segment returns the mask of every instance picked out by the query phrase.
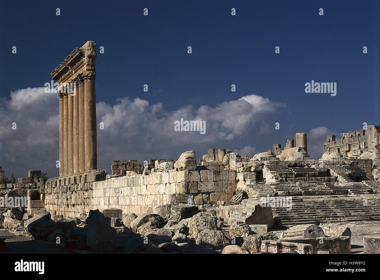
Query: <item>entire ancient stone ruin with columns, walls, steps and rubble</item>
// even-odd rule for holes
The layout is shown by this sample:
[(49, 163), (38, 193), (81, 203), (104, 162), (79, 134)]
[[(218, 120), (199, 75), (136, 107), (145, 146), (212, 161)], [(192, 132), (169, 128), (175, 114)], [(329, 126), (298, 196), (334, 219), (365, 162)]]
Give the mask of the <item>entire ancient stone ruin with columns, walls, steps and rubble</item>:
[[(332, 254), (351, 253), (351, 230), (337, 222), (380, 220), (375, 125), (328, 135), (320, 160), (296, 133), (295, 147), (287, 139), (253, 157), (209, 149), (199, 161), (185, 151), (97, 170), (95, 46), (76, 48), (51, 73), (60, 88), (78, 85), (58, 94), (60, 177), (43, 182), (30, 171), (2, 187), (30, 199), (26, 210), (2, 212), (4, 228), (93, 253)], [(379, 239), (364, 237), (364, 252), (379, 253)]]

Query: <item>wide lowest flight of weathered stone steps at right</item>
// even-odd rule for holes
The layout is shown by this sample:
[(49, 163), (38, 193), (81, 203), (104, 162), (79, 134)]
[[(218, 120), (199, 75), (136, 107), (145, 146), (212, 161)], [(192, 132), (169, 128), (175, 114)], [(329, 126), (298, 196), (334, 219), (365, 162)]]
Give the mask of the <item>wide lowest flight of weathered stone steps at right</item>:
[(292, 197), (291, 210), (272, 207), (283, 225), (380, 220), (379, 195)]

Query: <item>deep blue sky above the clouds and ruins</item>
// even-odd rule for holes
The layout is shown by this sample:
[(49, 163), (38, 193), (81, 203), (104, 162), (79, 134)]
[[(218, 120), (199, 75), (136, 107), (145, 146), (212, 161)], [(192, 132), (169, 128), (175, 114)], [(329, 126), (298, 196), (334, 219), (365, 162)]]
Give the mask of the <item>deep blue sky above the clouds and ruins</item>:
[[(261, 152), (319, 126), (342, 133), (380, 124), (379, 14), (379, 1), (6, 1), (0, 96), (44, 86), (74, 48), (91, 40), (98, 102), (139, 97), (172, 111), (256, 94), (286, 103), (266, 120), (282, 128), (270, 138), (260, 139), (256, 127), (239, 145), (219, 143)], [(311, 80), (336, 82), (337, 95), (305, 93)]]

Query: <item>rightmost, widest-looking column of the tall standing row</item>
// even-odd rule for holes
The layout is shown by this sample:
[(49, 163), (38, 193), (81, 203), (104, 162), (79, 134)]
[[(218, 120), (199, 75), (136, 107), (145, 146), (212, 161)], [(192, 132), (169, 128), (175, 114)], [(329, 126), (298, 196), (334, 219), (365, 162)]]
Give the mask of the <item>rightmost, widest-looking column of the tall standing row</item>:
[(97, 123), (95, 71), (86, 70), (84, 77), (84, 162), (86, 171), (97, 169)]

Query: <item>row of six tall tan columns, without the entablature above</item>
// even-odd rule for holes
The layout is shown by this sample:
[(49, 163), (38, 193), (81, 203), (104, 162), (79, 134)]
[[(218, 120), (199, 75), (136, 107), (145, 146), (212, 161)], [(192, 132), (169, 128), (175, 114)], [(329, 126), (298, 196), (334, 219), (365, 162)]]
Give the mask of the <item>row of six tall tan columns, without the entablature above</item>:
[(59, 94), (60, 176), (97, 169), (95, 77), (75, 83), (73, 93)]

